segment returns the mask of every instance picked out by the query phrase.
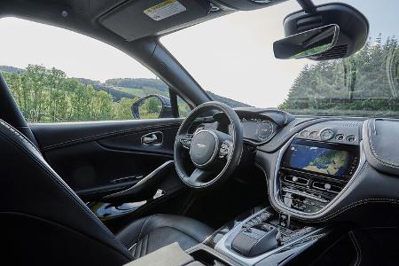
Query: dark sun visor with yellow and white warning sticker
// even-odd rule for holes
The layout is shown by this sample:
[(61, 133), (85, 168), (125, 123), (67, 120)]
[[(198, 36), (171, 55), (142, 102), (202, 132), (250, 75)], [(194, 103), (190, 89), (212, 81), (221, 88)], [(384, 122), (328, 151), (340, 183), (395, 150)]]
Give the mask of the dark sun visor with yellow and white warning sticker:
[(102, 15), (100, 23), (127, 41), (159, 35), (171, 27), (207, 16), (203, 0), (131, 0)]

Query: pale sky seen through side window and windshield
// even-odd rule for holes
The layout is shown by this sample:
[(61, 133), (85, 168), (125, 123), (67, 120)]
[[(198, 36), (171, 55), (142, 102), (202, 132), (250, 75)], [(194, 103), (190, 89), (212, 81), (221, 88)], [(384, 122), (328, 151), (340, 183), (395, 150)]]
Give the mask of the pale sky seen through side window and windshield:
[[(315, 1), (322, 4), (327, 1)], [(399, 1), (348, 0), (368, 18), (372, 37), (399, 36)], [(290, 0), (269, 8), (236, 12), (161, 38), (205, 90), (246, 104), (276, 107), (287, 96), (308, 59), (275, 59), (272, 43), (284, 37), (282, 22), (299, 10)], [(155, 75), (128, 55), (66, 29), (14, 18), (0, 20), (0, 65), (56, 67), (70, 77), (105, 82), (110, 78)], [(6, 51), (6, 52), (4, 52)]]

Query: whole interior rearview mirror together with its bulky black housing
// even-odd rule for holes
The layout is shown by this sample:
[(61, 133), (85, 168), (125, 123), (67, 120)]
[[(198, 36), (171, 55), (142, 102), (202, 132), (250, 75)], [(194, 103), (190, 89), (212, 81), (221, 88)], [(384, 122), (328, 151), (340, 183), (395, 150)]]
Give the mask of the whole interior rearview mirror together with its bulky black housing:
[(361, 12), (348, 4), (303, 2), (310, 7), (286, 16), (286, 38), (273, 43), (277, 59), (342, 59), (364, 46), (369, 22)]

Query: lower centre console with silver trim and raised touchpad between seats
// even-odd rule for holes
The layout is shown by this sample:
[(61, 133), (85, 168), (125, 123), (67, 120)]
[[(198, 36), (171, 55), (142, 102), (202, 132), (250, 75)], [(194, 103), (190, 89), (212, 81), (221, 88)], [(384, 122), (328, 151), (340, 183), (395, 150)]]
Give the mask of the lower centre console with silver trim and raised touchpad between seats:
[(278, 215), (271, 207), (254, 209), (252, 214), (242, 215), (215, 231), (205, 245), (194, 247), (189, 254), (200, 261), (201, 258), (196, 257), (200, 249), (202, 253), (207, 251), (236, 262), (217, 265), (278, 265), (331, 231), (329, 227), (311, 227), (289, 220), (289, 216)]

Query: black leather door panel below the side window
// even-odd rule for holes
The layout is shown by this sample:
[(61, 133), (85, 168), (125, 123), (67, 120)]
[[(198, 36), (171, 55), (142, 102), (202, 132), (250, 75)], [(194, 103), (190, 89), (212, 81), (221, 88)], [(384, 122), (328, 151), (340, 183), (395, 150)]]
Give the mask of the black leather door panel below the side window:
[[(83, 200), (136, 184), (167, 160), (182, 119), (31, 124), (43, 156)], [(160, 132), (161, 145), (143, 145)]]

